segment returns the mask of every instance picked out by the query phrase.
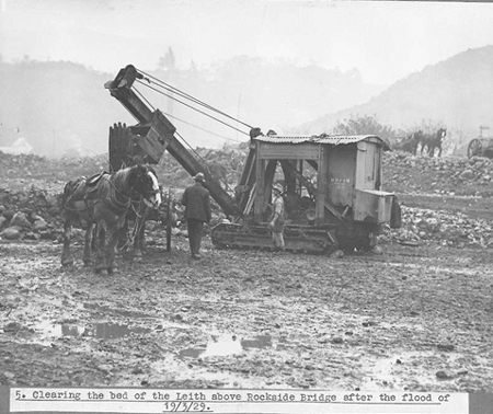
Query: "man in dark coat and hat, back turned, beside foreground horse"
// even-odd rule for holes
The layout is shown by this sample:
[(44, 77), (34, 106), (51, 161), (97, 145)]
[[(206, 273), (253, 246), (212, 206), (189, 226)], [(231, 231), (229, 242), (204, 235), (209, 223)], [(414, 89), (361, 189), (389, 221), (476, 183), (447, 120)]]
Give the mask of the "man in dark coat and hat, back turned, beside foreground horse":
[(208, 189), (204, 188), (204, 174), (196, 174), (194, 180), (195, 185), (187, 187), (183, 193), (182, 205), (185, 206), (185, 219), (188, 229), (192, 258), (199, 260), (204, 222), (210, 221), (210, 199)]

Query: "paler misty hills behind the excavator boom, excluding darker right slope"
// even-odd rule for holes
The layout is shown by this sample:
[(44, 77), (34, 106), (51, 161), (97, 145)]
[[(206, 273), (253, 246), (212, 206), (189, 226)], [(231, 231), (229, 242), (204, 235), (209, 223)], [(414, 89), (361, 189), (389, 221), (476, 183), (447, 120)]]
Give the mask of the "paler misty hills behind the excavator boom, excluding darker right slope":
[[(103, 88), (119, 69), (115, 66), (114, 73), (102, 73), (66, 61), (0, 60), (0, 90), (5, 97), (0, 101), (0, 147), (24, 138), (35, 153), (48, 157), (105, 152), (110, 126), (136, 124)], [(139, 69), (246, 124), (279, 133), (328, 111), (366, 102), (382, 89), (365, 84), (356, 70), (297, 67), (248, 57), (210, 69), (193, 62), (186, 70), (173, 66)], [(152, 106), (170, 115), (192, 146), (218, 148), (248, 138), (249, 128), (242, 125), (245, 135), (140, 85), (139, 91)]]

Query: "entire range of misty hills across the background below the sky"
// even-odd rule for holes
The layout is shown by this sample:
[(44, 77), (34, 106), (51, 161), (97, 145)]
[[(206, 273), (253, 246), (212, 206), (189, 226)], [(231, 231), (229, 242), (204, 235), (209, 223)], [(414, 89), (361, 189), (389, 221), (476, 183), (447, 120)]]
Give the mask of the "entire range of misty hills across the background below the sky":
[[(328, 133), (337, 120), (370, 115), (395, 130), (445, 126), (446, 153), (462, 154), (480, 125), (493, 128), (492, 67), (493, 46), (469, 49), (385, 91), (365, 84), (357, 70), (244, 56), (210, 69), (192, 62), (186, 70), (161, 67), (148, 73), (264, 131)], [(48, 157), (105, 152), (111, 125), (136, 123), (103, 88), (118, 69), (102, 73), (71, 62), (0, 61), (0, 88), (8, 96), (0, 102), (0, 147), (24, 138), (34, 153)], [(192, 147), (220, 148), (248, 138), (244, 125), (228, 120), (240, 129), (234, 130), (180, 102), (142, 92)]]

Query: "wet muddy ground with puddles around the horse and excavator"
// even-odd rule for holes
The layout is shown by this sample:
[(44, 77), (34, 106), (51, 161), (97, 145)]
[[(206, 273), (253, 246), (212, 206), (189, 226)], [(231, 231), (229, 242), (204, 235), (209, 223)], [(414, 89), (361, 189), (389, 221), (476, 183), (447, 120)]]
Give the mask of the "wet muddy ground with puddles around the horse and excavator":
[[(491, 198), (399, 197), (492, 217)], [(160, 228), (102, 276), (80, 242), (67, 271), (56, 240), (1, 240), (0, 384), (492, 392), (493, 245), (446, 244), (383, 237), (337, 258), (206, 238), (192, 261)]]

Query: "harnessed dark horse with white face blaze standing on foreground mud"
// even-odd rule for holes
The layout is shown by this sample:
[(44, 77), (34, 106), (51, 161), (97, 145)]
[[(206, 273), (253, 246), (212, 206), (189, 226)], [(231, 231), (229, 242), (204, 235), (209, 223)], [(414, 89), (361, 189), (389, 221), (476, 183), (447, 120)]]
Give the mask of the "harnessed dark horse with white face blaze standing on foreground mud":
[(134, 200), (144, 200), (149, 207), (159, 206), (161, 203), (158, 180), (148, 165), (138, 164), (114, 174), (104, 172), (90, 179), (69, 181), (65, 185), (61, 198), (64, 208), (61, 265), (68, 266), (73, 263), (70, 253), (71, 227), (77, 221), (84, 221), (87, 223), (84, 265), (91, 263), (92, 230), (98, 225), (95, 271), (113, 273), (118, 230)]

